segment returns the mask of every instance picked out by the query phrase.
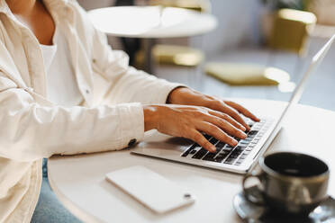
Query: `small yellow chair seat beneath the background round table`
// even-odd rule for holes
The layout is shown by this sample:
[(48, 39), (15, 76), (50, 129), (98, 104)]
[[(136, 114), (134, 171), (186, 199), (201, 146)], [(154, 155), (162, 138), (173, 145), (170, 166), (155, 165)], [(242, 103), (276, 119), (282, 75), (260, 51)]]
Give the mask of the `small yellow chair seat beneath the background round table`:
[(195, 67), (204, 59), (201, 50), (184, 46), (156, 45), (152, 53), (159, 64)]

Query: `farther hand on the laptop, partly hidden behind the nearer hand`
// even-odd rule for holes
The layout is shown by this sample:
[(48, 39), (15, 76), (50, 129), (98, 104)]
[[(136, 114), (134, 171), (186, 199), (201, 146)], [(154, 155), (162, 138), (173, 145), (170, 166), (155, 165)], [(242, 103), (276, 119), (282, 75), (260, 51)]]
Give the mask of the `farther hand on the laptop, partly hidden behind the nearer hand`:
[(234, 120), (237, 120), (246, 130), (250, 127), (242, 119), (240, 113), (254, 121), (259, 119), (238, 103), (223, 101), (221, 99), (201, 94), (187, 87), (178, 87), (168, 95), (168, 103), (203, 106), (214, 111), (228, 114)]

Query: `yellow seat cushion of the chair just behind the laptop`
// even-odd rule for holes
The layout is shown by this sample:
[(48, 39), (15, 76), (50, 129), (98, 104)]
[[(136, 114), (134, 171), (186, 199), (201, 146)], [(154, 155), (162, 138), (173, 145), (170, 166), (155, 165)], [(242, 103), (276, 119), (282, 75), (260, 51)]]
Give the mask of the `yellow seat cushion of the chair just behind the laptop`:
[(205, 72), (229, 85), (278, 85), (290, 79), (284, 70), (256, 64), (208, 63)]

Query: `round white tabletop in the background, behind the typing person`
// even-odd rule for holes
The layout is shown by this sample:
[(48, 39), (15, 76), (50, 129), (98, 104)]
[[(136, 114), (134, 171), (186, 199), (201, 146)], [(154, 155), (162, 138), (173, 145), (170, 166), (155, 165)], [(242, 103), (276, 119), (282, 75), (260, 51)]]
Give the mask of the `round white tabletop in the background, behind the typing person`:
[(95, 28), (119, 37), (190, 37), (213, 31), (217, 26), (212, 14), (174, 7), (106, 7), (92, 10), (89, 15)]

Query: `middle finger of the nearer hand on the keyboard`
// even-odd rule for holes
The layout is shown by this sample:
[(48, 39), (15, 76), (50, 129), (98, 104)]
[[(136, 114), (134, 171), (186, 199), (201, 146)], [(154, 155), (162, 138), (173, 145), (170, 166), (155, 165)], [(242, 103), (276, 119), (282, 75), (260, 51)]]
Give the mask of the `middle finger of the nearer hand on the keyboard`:
[(237, 137), (237, 138), (247, 138), (247, 135), (241, 131), (240, 129), (235, 128), (231, 123), (229, 123), (227, 120), (223, 120), (217, 116), (214, 115), (207, 115), (204, 120), (207, 122), (210, 122), (214, 124), (215, 126), (223, 129), (225, 132), (230, 134), (231, 136)]

